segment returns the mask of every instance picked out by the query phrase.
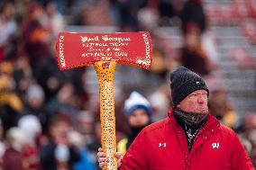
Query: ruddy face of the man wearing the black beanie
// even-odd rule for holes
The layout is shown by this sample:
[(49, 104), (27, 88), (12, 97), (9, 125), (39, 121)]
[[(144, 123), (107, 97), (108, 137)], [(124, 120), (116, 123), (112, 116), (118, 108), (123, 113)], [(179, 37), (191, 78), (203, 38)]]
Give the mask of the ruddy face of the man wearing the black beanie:
[(208, 112), (207, 101), (208, 96), (206, 90), (197, 90), (188, 94), (177, 107), (184, 112), (197, 112), (206, 113)]

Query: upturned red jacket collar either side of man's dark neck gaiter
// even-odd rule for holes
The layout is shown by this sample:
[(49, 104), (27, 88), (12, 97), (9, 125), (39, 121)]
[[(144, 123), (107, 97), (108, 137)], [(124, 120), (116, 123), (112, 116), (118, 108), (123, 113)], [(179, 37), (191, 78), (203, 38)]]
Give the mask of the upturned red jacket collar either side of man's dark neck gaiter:
[[(173, 109), (174, 107), (172, 107), (169, 112), (168, 112), (168, 117), (169, 117), (169, 121), (171, 121), (174, 125), (179, 126), (178, 122), (176, 121), (174, 114), (173, 114)], [(217, 121), (217, 119), (215, 118), (215, 116), (213, 116), (210, 112), (208, 112), (208, 118), (206, 123), (204, 124), (204, 129), (208, 129), (212, 126), (217, 126), (219, 127), (220, 122)]]

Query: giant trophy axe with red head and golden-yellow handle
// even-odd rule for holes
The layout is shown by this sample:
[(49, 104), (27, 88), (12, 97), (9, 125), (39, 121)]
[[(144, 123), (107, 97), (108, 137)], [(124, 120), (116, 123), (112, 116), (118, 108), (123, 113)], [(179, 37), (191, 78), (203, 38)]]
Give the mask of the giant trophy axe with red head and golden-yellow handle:
[(108, 159), (105, 170), (117, 169), (114, 117), (114, 70), (117, 63), (149, 69), (149, 32), (60, 32), (56, 42), (59, 69), (94, 65), (99, 80), (101, 144)]

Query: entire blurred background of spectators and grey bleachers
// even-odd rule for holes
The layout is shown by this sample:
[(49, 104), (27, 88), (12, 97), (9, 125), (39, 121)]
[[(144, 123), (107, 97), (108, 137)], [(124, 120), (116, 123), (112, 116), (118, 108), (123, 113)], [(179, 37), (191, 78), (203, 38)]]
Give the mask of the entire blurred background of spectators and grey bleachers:
[(256, 164), (255, 0), (1, 0), (0, 169), (98, 168), (96, 72), (59, 71), (59, 31), (150, 31), (151, 70), (115, 71), (117, 141), (130, 133), (131, 92), (146, 96), (159, 121), (172, 105), (169, 72), (185, 66), (206, 79), (210, 111)]

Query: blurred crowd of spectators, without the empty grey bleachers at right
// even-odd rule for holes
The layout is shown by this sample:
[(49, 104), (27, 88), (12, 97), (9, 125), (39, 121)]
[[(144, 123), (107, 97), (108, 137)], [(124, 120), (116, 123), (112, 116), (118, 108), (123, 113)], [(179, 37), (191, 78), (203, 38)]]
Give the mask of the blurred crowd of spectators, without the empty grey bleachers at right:
[[(204, 43), (209, 25), (200, 0), (5, 0), (0, 3), (0, 169), (98, 168), (99, 102), (88, 92), (87, 67), (59, 71), (55, 57), (58, 32), (69, 25), (151, 32), (151, 70), (142, 74), (140, 85), (121, 84), (115, 96), (117, 140), (129, 134), (123, 103), (130, 92), (148, 97), (151, 119), (158, 121), (171, 106), (169, 71), (185, 66), (206, 78), (210, 111), (237, 131), (255, 165), (256, 115), (240, 120), (211, 74), (218, 61), (213, 44)], [(157, 31), (173, 25), (183, 41), (178, 51)], [(147, 83), (152, 77), (158, 88)]]

